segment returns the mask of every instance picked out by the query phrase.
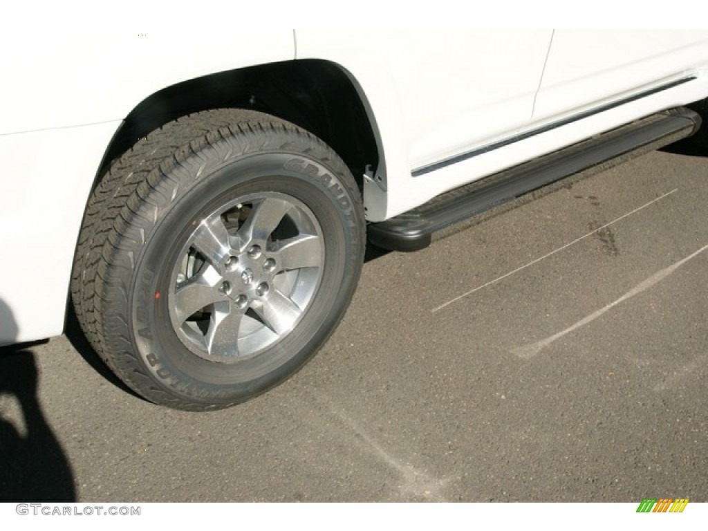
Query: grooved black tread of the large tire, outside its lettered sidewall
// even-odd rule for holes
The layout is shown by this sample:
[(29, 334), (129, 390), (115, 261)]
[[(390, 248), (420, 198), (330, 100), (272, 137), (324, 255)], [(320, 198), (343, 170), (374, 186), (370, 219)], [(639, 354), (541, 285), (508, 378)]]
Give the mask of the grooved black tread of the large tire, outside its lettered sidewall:
[[(132, 263), (135, 256), (127, 243), (133, 236), (139, 238), (137, 227), (152, 226), (154, 220), (148, 212), (161, 207), (156, 198), (161, 198), (165, 205), (171, 201), (170, 195), (180, 184), (171, 178), (171, 171), (199, 156), (202, 149), (213, 148), (227, 138), (242, 142), (244, 153), (275, 149), (292, 149), (300, 154), (317, 152), (319, 160), (339, 176), (350, 175), (324, 142), (289, 122), (232, 108), (187, 115), (154, 130), (110, 164), (89, 199), (76, 246), (70, 291), (84, 335), (106, 365), (129, 387), (151, 401), (177, 409), (201, 411), (233, 404), (205, 406), (177, 399), (139, 369), (137, 354), (131, 348), (129, 326), (122, 317), (123, 309), (129, 305), (128, 286), (135, 267)], [(259, 139), (262, 140), (258, 142)], [(289, 145), (293, 142), (298, 145)], [(355, 208), (362, 212), (353, 178), (343, 178), (341, 183), (355, 199)], [(363, 253), (363, 238), (359, 251)]]

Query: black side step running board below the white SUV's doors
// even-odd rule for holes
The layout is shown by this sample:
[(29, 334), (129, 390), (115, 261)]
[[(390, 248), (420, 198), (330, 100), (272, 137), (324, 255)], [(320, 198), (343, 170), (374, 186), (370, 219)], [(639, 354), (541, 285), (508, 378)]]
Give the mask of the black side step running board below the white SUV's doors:
[(430, 245), (433, 232), (594, 166), (603, 164), (603, 169), (607, 169), (613, 165), (611, 161), (619, 164), (634, 152), (659, 149), (692, 135), (700, 125), (700, 116), (683, 107), (642, 118), (438, 195), (387, 221), (372, 223), (368, 239), (373, 245), (392, 251), (424, 249)]

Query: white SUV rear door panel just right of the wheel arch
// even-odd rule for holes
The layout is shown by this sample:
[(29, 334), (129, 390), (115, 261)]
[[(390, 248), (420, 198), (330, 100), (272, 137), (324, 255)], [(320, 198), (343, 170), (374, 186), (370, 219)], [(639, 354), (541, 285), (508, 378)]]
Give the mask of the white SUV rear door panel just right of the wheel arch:
[(552, 32), (296, 35), (298, 59), (346, 65), (376, 119), (402, 124), (392, 135), (405, 136), (409, 170), (415, 170), (513, 135), (530, 120)]

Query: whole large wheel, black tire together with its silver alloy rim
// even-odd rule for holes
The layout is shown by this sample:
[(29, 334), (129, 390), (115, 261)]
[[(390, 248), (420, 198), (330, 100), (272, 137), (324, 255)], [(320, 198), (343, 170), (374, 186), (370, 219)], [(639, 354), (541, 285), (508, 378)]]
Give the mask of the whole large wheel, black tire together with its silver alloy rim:
[(115, 161), (89, 200), (72, 300), (144, 398), (201, 411), (290, 377), (331, 335), (363, 263), (343, 161), (270, 115), (189, 115)]

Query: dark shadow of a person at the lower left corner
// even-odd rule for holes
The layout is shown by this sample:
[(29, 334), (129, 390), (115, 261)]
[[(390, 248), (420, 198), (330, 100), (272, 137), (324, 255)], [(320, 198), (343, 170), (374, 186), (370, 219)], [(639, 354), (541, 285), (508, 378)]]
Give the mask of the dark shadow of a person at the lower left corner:
[[(17, 326), (0, 300), (3, 331)], [(76, 490), (69, 459), (47, 423), (38, 399), (38, 370), (28, 345), (0, 348), (0, 501), (74, 502)], [(24, 430), (6, 418), (8, 397), (21, 411)], [(24, 433), (23, 433), (24, 432)]]

